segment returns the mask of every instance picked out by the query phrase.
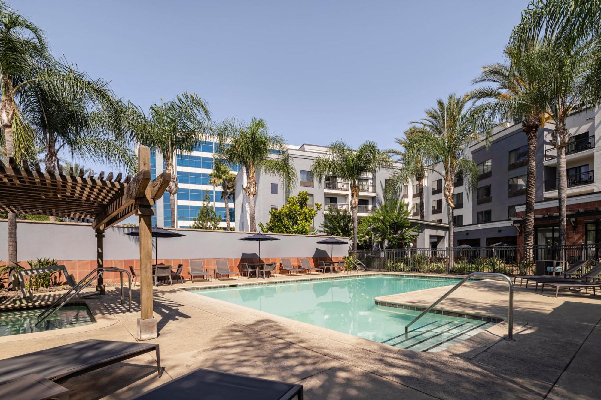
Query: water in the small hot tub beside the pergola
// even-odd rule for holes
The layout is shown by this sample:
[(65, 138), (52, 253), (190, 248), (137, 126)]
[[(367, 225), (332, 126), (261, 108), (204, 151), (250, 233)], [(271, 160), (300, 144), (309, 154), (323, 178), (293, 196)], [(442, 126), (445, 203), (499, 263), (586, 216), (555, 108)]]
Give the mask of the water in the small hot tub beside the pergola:
[(44, 309), (0, 312), (0, 336), (73, 328), (96, 322), (86, 306), (64, 306), (40, 327), (35, 327), (37, 317), (42, 311)]

